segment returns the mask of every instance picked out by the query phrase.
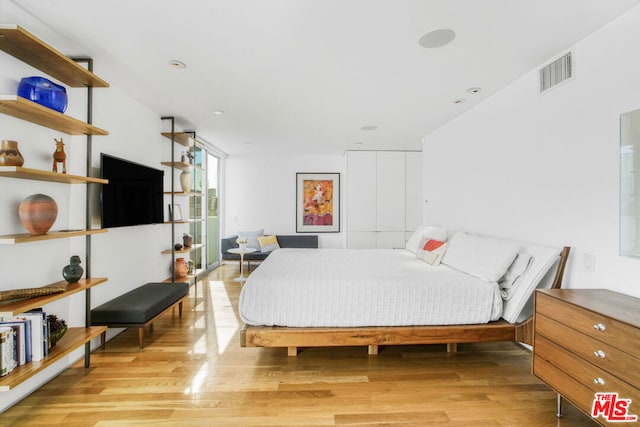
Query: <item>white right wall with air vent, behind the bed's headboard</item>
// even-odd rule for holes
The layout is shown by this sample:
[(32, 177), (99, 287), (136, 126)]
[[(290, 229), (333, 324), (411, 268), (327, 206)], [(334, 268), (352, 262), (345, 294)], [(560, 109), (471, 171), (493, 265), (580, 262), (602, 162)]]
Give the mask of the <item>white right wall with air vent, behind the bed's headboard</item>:
[(640, 296), (640, 259), (618, 255), (619, 118), (640, 108), (638, 22), (640, 7), (578, 43), (572, 82), (540, 96), (534, 70), (427, 135), (424, 221), (572, 246), (565, 286)]

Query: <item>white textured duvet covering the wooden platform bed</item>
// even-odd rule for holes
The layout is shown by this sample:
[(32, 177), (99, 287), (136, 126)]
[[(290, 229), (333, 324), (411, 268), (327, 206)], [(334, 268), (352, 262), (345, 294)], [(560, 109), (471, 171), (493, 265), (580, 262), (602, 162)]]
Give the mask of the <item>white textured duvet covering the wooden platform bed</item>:
[(502, 298), (489, 283), (404, 249), (277, 249), (240, 294), (249, 325), (359, 327), (487, 323)]

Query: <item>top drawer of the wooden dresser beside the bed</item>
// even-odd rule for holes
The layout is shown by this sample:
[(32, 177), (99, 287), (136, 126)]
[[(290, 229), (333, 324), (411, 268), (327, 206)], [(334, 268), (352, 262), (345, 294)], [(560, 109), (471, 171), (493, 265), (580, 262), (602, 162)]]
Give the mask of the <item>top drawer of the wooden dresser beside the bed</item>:
[(640, 332), (637, 327), (542, 292), (536, 293), (536, 313), (640, 359)]

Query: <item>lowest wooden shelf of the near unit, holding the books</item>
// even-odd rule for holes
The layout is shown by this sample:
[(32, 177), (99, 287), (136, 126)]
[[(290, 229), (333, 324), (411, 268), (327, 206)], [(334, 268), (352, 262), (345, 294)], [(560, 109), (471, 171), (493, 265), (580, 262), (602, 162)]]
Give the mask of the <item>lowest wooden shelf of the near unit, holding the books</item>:
[(53, 365), (72, 351), (81, 347), (84, 343), (97, 338), (106, 326), (91, 326), (89, 328), (69, 328), (67, 333), (51, 348), (49, 355), (38, 362), (29, 362), (15, 368), (5, 377), (0, 378), (0, 391), (9, 391), (45, 368)]

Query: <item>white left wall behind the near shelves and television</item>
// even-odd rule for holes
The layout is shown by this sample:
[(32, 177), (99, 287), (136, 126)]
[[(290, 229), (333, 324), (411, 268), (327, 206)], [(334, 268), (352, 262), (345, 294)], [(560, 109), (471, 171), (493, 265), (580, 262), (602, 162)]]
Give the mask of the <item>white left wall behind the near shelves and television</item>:
[[(4, 21), (4, 18), (3, 18)], [(25, 26), (36, 34), (46, 33), (37, 22)], [(44, 37), (44, 36), (43, 36)], [(90, 53), (90, 52), (89, 52)], [(38, 70), (22, 64), (0, 52), (0, 93), (15, 94), (21, 77), (42, 75)], [(100, 73), (100, 63), (95, 71)], [(67, 114), (85, 120), (86, 91), (68, 89), (70, 106)], [(160, 136), (160, 118), (117, 87), (94, 90), (94, 124), (110, 132), (109, 136), (93, 137), (94, 174), (99, 174), (100, 152), (107, 152), (148, 166), (162, 169), (160, 162), (169, 160), (169, 142)], [(38, 125), (0, 114), (0, 139), (13, 139), (25, 157), (25, 167), (50, 170), (54, 138), (63, 137), (68, 155), (68, 172), (85, 174), (86, 139), (70, 137)], [(84, 228), (85, 186), (41, 181), (0, 178), (0, 235), (24, 233), (18, 219), (18, 204), (33, 193), (51, 195), (58, 203), (59, 214), (52, 230)], [(92, 198), (98, 215), (97, 196)], [(94, 216), (95, 217), (95, 216)], [(98, 222), (99, 217), (94, 218)], [(108, 277), (109, 281), (92, 290), (93, 306), (115, 295), (149, 281), (162, 281), (169, 276), (170, 257), (160, 251), (170, 247), (170, 228), (150, 225), (111, 229), (106, 234), (93, 236), (94, 277)], [(62, 280), (62, 268), (74, 254), (81, 256), (86, 269), (85, 239), (57, 239), (19, 245), (0, 245), (0, 290), (43, 286)], [(77, 294), (45, 307), (65, 319), (70, 326), (84, 326), (84, 296)], [(113, 331), (110, 330), (110, 336)], [(97, 340), (94, 340), (97, 341)], [(93, 343), (94, 347), (97, 342)], [(41, 383), (60, 373), (65, 367), (82, 357), (75, 351), (69, 357), (46, 369), (41, 374), (9, 392), (0, 393), (0, 412), (35, 390)]]

